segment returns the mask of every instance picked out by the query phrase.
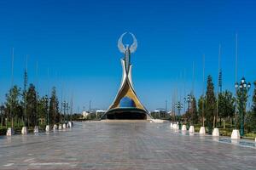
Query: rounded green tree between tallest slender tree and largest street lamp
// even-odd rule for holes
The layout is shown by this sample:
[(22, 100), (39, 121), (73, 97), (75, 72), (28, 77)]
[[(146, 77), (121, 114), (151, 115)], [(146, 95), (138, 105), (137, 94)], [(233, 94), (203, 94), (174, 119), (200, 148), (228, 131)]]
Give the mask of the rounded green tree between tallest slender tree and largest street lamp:
[(230, 117), (232, 118), (235, 113), (235, 98), (229, 91), (218, 94), (218, 116), (224, 121)]

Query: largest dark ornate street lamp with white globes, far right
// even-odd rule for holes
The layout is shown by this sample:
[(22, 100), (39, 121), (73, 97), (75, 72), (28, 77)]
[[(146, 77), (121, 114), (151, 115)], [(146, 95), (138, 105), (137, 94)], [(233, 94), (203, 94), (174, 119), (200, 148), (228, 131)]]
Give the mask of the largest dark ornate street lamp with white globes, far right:
[(245, 111), (246, 111), (246, 106), (245, 106), (244, 102), (246, 102), (246, 98), (247, 98), (244, 95), (247, 94), (247, 91), (249, 91), (249, 89), (251, 88), (251, 83), (246, 82), (245, 77), (242, 77), (239, 86), (238, 86), (237, 82), (235, 84), (235, 88), (237, 89), (238, 87), (241, 92), (241, 101), (239, 104), (240, 105), (240, 117), (241, 117), (240, 134), (241, 134), (241, 136), (243, 136), (244, 135), (244, 115), (245, 115)]

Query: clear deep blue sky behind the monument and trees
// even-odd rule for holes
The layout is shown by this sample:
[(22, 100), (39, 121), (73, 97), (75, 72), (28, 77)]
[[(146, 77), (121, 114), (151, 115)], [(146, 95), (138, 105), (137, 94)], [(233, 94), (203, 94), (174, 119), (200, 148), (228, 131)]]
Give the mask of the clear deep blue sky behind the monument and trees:
[[(223, 86), (234, 91), (235, 35), (238, 33), (238, 78), (256, 77), (256, 3), (251, 1), (1, 1), (0, 100), (11, 83), (11, 49), (15, 48), (15, 84), (23, 87), (28, 57), (28, 82), (40, 95), (55, 86), (61, 98), (73, 94), (74, 109), (107, 109), (121, 79), (123, 56), (117, 41), (133, 32), (138, 48), (131, 56), (133, 82), (148, 110), (168, 107), (172, 94), (202, 89), (202, 54), (206, 77), (218, 79), (218, 45), (222, 46)], [(126, 42), (131, 41), (126, 37)], [(47, 70), (49, 68), (49, 77)], [(183, 96), (182, 96), (183, 97)]]

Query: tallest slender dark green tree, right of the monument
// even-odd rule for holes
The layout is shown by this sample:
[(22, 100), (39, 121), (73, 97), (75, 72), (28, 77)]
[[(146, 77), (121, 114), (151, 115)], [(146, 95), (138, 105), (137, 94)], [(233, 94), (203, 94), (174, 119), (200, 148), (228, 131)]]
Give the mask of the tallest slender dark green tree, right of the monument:
[(214, 117), (216, 117), (216, 98), (214, 94), (214, 86), (212, 77), (207, 78), (207, 96), (206, 96), (206, 122), (208, 127), (208, 133), (212, 133), (212, 125)]

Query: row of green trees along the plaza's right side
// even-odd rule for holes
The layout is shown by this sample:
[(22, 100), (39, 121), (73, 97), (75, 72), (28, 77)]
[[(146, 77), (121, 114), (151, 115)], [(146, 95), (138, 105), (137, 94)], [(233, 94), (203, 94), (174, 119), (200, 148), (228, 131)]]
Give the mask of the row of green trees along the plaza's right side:
[(207, 127), (208, 133), (212, 133), (213, 127), (225, 128), (227, 124), (239, 128), (243, 120), (240, 113), (243, 112), (247, 133), (256, 133), (256, 82), (254, 82), (252, 106), (247, 107), (247, 99), (248, 90), (242, 93), (240, 88), (237, 88), (236, 98), (228, 90), (215, 94), (212, 77), (208, 76), (206, 94), (201, 95), (197, 102), (192, 96), (191, 105), (183, 115), (183, 120), (193, 124), (200, 123), (201, 126)]

